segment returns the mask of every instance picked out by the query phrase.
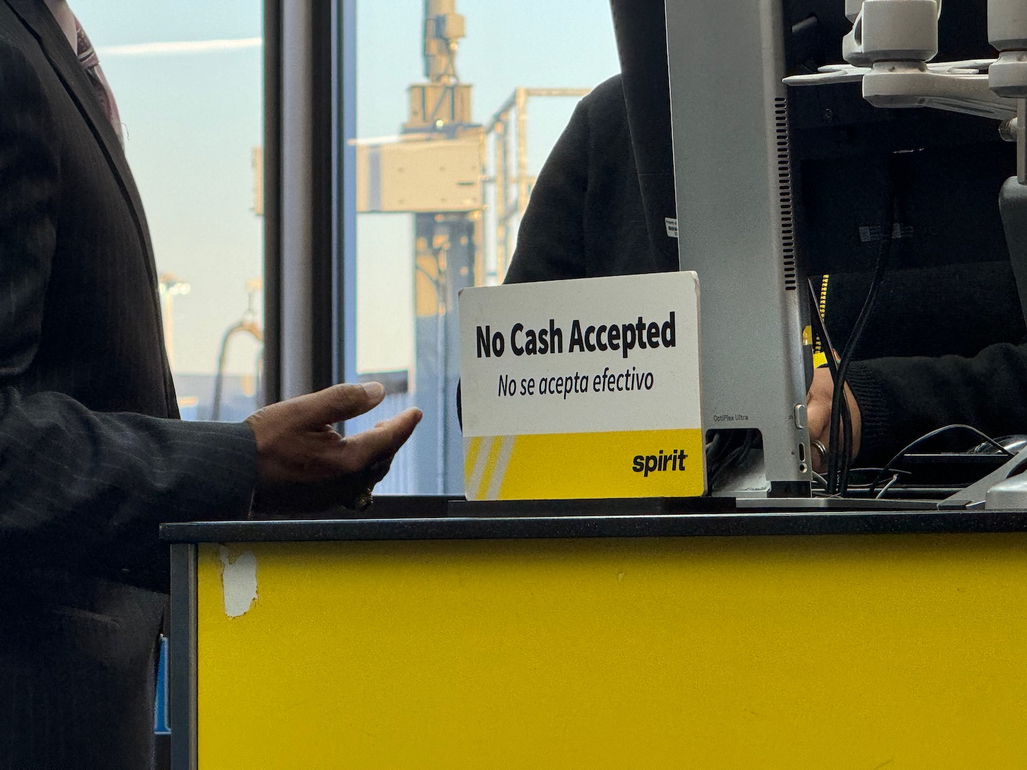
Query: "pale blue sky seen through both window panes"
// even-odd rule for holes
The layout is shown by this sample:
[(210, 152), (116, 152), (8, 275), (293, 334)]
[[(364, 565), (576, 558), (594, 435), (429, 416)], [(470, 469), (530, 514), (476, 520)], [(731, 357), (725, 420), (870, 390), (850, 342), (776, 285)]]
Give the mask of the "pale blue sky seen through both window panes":
[[(213, 373), (225, 330), (261, 275), (252, 152), (262, 141), (262, 4), (256, 0), (70, 0), (100, 53), (126, 132), (159, 272), (187, 281), (174, 301), (177, 373)], [(606, 0), (457, 0), (457, 57), (485, 121), (518, 86), (592, 87), (618, 70)], [(145, 12), (144, 12), (145, 9)], [(357, 2), (357, 137), (397, 132), (407, 87), (424, 79), (423, 0)], [(191, 43), (183, 45), (181, 43)], [(574, 100), (533, 100), (529, 172), (537, 174)], [(413, 224), (357, 221), (357, 369), (413, 364)], [(258, 298), (257, 309), (260, 309)], [(237, 339), (228, 371), (254, 371)]]

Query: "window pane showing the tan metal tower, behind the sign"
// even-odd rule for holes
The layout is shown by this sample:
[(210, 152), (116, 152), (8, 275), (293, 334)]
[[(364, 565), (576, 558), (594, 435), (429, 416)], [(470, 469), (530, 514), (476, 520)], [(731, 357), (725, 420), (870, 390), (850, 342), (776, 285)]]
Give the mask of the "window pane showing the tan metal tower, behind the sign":
[(357, 371), (347, 375), (389, 394), (350, 429), (420, 407), (425, 419), (378, 490), (459, 494), (457, 292), (501, 281), (571, 111), (619, 71), (610, 10), (357, 0), (355, 45)]

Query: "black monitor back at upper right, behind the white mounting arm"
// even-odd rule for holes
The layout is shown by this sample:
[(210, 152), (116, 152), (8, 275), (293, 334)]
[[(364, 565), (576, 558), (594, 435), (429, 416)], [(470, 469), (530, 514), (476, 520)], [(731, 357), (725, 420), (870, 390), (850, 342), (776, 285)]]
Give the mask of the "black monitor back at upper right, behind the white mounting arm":
[[(785, 0), (786, 71), (840, 63), (851, 25), (844, 0)], [(994, 57), (987, 0), (946, 3), (936, 61)], [(997, 122), (931, 109), (880, 109), (859, 83), (790, 88), (801, 258), (811, 274), (869, 270), (885, 198), (885, 164), (903, 153), (904, 222), (889, 263), (897, 269), (1009, 260), (998, 191), (1016, 148)]]

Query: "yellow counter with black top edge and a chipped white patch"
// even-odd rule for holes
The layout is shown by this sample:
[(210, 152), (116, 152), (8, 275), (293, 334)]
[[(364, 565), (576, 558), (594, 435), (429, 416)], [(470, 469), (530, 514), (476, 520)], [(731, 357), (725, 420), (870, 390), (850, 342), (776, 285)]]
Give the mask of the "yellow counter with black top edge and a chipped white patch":
[[(167, 526), (174, 767), (1027, 768), (1025, 530), (965, 512)], [(239, 612), (226, 590), (251, 564)]]

